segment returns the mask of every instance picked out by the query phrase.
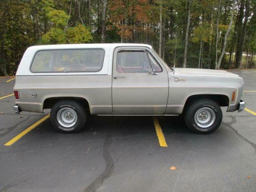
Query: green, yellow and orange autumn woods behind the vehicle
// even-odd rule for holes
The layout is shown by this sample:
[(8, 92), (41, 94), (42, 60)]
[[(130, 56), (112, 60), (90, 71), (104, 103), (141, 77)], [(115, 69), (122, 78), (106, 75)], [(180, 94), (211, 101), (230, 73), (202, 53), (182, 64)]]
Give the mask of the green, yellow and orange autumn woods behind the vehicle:
[[(256, 1), (249, 1), (249, 17), (243, 35), (243, 52), (256, 55)], [(89, 3), (90, 2), (90, 3)], [(221, 53), (234, 0), (221, 0), (219, 41)], [(240, 44), (238, 29), (241, 0), (236, 0), (235, 17), (227, 38), (226, 52)], [(160, 5), (162, 7), (162, 53), (171, 66), (176, 47), (176, 66), (182, 66), (187, 30), (188, 0), (107, 0), (106, 42), (147, 43), (159, 48)], [(71, 7), (71, 9), (70, 9)], [(197, 67), (200, 44), (203, 67), (214, 67), (219, 0), (191, 0), (187, 67)], [(13, 74), (27, 47), (35, 44), (100, 43), (103, 3), (101, 0), (1, 0), (0, 75)], [(244, 9), (245, 12), (245, 7)], [(238, 20), (242, 23), (238, 25)], [(178, 36), (176, 46), (176, 33)], [(225, 55), (222, 68), (233, 67), (235, 56)], [(230, 60), (230, 62), (229, 62)], [(245, 60), (242, 62), (245, 64)], [(249, 56), (250, 67), (254, 66)]]

